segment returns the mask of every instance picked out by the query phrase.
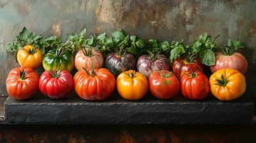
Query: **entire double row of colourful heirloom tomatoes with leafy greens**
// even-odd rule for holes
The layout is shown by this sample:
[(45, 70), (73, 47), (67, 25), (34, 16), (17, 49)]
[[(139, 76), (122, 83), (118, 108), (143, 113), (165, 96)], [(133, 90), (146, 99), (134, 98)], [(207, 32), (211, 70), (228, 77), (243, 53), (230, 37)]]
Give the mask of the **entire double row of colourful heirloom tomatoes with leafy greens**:
[[(218, 47), (203, 33), (191, 45), (164, 40), (149, 43), (124, 30), (84, 38), (79, 34), (43, 38), (24, 27), (14, 42), (6, 43), (7, 52), (20, 64), (6, 79), (8, 94), (17, 100), (35, 95), (38, 88), (50, 98), (65, 98), (75, 88), (84, 100), (104, 100), (117, 87), (127, 100), (140, 100), (150, 92), (160, 99), (172, 99), (179, 92), (188, 99), (202, 100), (209, 92), (219, 100), (234, 100), (246, 87), (247, 61), (237, 49), (244, 43), (228, 40)], [(105, 59), (105, 60), (104, 60)], [(43, 65), (39, 77), (34, 70)], [(172, 66), (170, 66), (172, 65)], [(210, 66), (212, 75), (204, 75)], [(172, 67), (172, 69), (171, 69)], [(72, 77), (70, 72), (76, 68)], [(170, 72), (172, 70), (172, 72)], [(136, 72), (137, 71), (137, 72)]]

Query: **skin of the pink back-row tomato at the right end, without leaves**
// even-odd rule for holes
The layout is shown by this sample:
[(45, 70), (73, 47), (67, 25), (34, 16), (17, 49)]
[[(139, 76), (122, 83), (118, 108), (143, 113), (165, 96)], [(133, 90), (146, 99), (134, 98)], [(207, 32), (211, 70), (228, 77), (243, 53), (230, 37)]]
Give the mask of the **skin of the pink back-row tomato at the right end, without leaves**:
[(245, 57), (239, 52), (234, 52), (231, 56), (225, 56), (221, 52), (215, 52), (215, 64), (214, 66), (210, 66), (211, 72), (214, 73), (225, 68), (238, 70), (244, 75), (247, 72), (248, 63)]

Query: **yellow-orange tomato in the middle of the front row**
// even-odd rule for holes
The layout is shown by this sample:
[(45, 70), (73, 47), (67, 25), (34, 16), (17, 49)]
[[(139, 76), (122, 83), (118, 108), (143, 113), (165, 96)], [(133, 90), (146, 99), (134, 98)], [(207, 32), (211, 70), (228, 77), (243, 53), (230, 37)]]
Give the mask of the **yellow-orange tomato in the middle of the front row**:
[(140, 100), (148, 91), (148, 80), (140, 72), (129, 70), (118, 75), (116, 86), (125, 100)]

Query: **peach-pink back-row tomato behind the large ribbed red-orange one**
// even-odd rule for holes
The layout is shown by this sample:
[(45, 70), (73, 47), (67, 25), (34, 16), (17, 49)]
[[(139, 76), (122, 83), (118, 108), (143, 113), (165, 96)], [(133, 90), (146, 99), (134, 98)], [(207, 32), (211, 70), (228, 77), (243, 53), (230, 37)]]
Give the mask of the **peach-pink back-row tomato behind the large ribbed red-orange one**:
[(94, 65), (94, 68), (101, 68), (104, 62), (104, 58), (101, 52), (98, 52), (94, 48), (83, 48), (79, 50), (75, 57), (75, 66), (76, 69), (83, 70), (84, 68), (90, 68), (90, 66)]

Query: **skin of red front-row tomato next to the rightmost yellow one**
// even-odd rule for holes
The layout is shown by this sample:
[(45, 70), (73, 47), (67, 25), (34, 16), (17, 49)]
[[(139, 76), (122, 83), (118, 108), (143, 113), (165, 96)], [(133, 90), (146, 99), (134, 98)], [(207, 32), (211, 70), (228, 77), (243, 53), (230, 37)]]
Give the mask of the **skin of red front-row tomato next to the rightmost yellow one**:
[(197, 72), (197, 77), (189, 78), (184, 75), (180, 80), (180, 93), (190, 100), (203, 100), (210, 93), (210, 84), (202, 72)]

